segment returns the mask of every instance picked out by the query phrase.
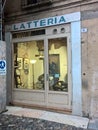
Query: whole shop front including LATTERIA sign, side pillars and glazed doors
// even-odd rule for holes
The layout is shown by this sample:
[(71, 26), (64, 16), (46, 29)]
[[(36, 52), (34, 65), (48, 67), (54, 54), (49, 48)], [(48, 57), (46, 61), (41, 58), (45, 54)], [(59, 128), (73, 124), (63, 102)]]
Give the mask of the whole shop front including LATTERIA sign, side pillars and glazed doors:
[(6, 26), (13, 104), (82, 115), (80, 26), (80, 12)]

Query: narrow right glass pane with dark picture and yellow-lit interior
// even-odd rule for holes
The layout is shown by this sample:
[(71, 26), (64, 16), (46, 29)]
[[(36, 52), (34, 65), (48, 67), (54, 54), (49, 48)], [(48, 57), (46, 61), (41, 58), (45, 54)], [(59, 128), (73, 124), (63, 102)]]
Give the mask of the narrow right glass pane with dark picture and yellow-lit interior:
[(49, 90), (68, 91), (67, 38), (48, 40)]

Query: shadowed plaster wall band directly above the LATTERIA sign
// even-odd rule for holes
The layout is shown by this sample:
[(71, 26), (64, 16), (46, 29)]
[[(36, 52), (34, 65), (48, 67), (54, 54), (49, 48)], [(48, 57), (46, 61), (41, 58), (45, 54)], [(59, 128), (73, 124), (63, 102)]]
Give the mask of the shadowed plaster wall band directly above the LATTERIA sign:
[[(93, 1), (93, 2), (92, 2)], [(5, 24), (12, 24), (35, 19), (42, 19), (57, 15), (69, 14), (73, 12), (97, 10), (98, 3), (96, 0), (82, 1), (82, 0), (52, 0), (52, 4), (39, 8), (22, 9), (21, 1), (11, 0), (6, 1), (5, 5)], [(40, 12), (40, 13), (39, 13)]]

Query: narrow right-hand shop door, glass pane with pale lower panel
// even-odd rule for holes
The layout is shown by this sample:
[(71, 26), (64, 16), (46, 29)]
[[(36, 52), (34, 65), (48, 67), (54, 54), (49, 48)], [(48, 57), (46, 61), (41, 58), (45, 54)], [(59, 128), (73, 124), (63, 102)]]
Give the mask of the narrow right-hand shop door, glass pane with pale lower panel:
[(68, 37), (48, 39), (48, 106), (71, 107), (70, 43)]

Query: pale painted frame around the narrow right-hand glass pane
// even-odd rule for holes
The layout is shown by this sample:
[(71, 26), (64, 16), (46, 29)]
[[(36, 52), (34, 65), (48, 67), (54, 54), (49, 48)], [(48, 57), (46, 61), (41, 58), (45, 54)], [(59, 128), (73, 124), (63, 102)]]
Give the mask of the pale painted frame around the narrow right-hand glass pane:
[[(48, 73), (49, 73), (49, 64), (48, 64), (48, 39), (55, 39), (55, 38), (67, 38), (67, 62), (68, 62), (68, 92), (63, 92), (63, 93), (65, 93), (65, 94), (68, 94), (68, 96), (69, 96), (69, 103), (68, 103), (68, 105), (66, 106), (66, 109), (72, 109), (72, 77), (71, 77), (71, 40), (70, 40), (70, 36), (71, 34), (70, 33), (64, 33), (64, 34), (56, 34), (56, 35), (47, 35), (46, 37), (45, 37), (45, 49), (47, 49), (47, 51), (45, 52), (45, 61), (47, 62), (46, 63), (46, 77), (47, 77), (47, 75), (49, 75)], [(48, 94), (49, 93), (55, 93), (55, 94), (57, 94), (57, 93), (59, 93), (59, 94), (62, 94), (62, 92), (58, 92), (58, 91), (49, 91), (49, 81), (48, 80), (46, 80), (46, 84), (47, 84), (47, 86), (46, 86), (46, 93), (47, 93), (47, 95), (46, 95), (46, 99), (47, 99), (47, 107), (49, 106), (49, 103), (48, 103)]]

